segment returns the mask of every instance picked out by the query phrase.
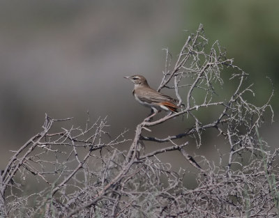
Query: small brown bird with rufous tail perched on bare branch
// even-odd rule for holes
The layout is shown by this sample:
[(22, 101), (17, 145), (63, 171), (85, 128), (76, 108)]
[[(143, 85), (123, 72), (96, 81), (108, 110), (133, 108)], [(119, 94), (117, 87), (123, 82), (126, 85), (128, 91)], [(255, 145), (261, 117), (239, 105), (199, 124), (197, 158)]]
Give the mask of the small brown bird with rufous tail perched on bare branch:
[(162, 109), (164, 111), (177, 112), (177, 109), (180, 108), (176, 105), (176, 103), (179, 102), (178, 100), (175, 100), (174, 98), (162, 93), (158, 93), (158, 91), (150, 88), (143, 76), (135, 75), (124, 78), (130, 79), (130, 81), (135, 84), (135, 88), (133, 90), (135, 100), (146, 107), (151, 107), (155, 113), (161, 111)]

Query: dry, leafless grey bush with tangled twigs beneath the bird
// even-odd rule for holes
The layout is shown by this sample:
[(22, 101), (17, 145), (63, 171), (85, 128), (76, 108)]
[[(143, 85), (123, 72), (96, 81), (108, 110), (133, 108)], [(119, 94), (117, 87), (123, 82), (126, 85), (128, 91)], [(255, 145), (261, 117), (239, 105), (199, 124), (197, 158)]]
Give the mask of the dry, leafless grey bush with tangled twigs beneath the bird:
[[(1, 172), (1, 217), (276, 217), (278, 150), (271, 153), (257, 135), (264, 112), (271, 109), (270, 98), (261, 107), (248, 102), (246, 93), (253, 92), (246, 77), (218, 42), (209, 47), (200, 25), (174, 64), (167, 51), (158, 87), (174, 89), (179, 104), (185, 105), (181, 111), (143, 120), (133, 140), (126, 139), (126, 130), (111, 139), (105, 118), (93, 124), (87, 120), (84, 129), (57, 131), (56, 125), (68, 124), (70, 118), (46, 115), (43, 132), (15, 151)], [(238, 83), (232, 93), (225, 87), (230, 81)], [(219, 95), (226, 92), (227, 97)], [(213, 111), (215, 118), (204, 123), (199, 111)], [(178, 116), (187, 120), (186, 130), (164, 139), (146, 136), (146, 130)], [(192, 157), (186, 150), (190, 139), (199, 148), (208, 129), (228, 147), (229, 153), (220, 155), (225, 165)], [(144, 141), (169, 146), (144, 153)], [(173, 171), (158, 159), (172, 150), (198, 170), (195, 188), (183, 184), (188, 169)], [(24, 180), (40, 186), (26, 189)]]

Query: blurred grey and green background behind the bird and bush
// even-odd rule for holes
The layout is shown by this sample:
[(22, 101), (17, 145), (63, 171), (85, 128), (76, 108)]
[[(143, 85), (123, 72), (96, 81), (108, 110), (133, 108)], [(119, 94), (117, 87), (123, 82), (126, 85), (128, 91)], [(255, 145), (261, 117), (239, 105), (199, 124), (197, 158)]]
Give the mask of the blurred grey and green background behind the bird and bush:
[[(112, 136), (128, 128), (127, 137), (133, 138), (135, 126), (150, 111), (135, 102), (133, 84), (123, 77), (141, 74), (158, 87), (165, 66), (163, 49), (176, 57), (200, 23), (209, 44), (219, 40), (227, 56), (250, 74), (255, 104), (263, 104), (271, 93), (266, 77), (273, 80), (278, 121), (278, 20), (275, 0), (1, 1), (1, 169), (12, 155), (9, 150), (42, 130), (45, 113), (74, 117), (75, 125), (82, 127), (87, 110), (92, 121), (108, 115)], [(276, 146), (278, 122), (266, 121), (260, 132)], [(171, 122), (174, 132), (185, 130), (185, 123), (177, 122)], [(168, 130), (163, 126), (152, 134), (167, 137)], [(212, 135), (190, 154), (216, 154), (218, 141), (216, 133)], [(163, 161), (172, 161), (173, 155)], [(179, 158), (177, 167), (183, 163)]]

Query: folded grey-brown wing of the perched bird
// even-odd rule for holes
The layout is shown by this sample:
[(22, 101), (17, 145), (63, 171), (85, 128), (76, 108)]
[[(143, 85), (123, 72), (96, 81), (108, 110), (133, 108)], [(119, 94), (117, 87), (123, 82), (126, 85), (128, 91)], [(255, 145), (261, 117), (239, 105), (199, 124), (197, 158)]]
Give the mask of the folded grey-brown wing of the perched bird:
[(155, 91), (153, 89), (144, 90), (144, 92), (141, 93), (141, 95), (137, 95), (137, 98), (144, 102), (178, 102), (177, 100), (173, 99), (172, 97), (169, 97), (168, 95), (164, 95), (162, 93), (158, 93), (158, 91)]

